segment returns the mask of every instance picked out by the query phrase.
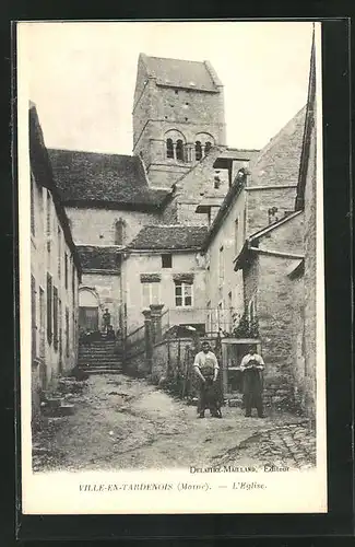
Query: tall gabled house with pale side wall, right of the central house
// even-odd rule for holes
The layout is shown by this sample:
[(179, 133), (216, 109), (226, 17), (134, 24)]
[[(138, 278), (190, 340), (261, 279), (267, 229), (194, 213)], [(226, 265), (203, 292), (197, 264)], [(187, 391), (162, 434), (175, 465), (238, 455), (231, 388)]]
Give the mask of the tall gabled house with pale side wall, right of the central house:
[(277, 225), (294, 211), (304, 124), (305, 108), (259, 154), (253, 153), (249, 164), (233, 162), (233, 184), (225, 198), (210, 193), (197, 207), (197, 213), (210, 219), (202, 246), (206, 307), (211, 309), (206, 321), (229, 334), (245, 311), (253, 309), (252, 296), (246, 301), (242, 275), (234, 261), (249, 236)]

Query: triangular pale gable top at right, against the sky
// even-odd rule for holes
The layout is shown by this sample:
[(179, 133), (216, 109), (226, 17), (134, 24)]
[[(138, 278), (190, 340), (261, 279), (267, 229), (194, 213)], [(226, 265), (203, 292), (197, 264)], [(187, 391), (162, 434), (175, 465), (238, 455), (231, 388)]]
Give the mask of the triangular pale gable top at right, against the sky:
[(306, 106), (261, 150), (248, 186), (297, 185), (305, 116)]

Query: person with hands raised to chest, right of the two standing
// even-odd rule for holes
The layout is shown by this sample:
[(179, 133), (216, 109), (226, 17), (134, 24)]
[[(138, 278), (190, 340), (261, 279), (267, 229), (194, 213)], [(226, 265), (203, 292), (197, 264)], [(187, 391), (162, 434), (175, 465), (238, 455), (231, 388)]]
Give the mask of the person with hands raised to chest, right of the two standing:
[(253, 348), (241, 359), (240, 371), (242, 372), (242, 393), (246, 408), (246, 417), (251, 416), (251, 409), (256, 408), (258, 417), (263, 418), (262, 389), (264, 362)]

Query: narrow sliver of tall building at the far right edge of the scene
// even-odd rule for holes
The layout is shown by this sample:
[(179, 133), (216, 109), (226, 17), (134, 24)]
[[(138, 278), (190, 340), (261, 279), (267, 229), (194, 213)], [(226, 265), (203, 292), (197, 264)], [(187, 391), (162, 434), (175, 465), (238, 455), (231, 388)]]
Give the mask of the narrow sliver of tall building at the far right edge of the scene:
[[(294, 282), (293, 341), (295, 397), (310, 419), (316, 418), (317, 393), (317, 302), (322, 287), (317, 282), (317, 100), (316, 45), (313, 40), (303, 154), (297, 187), (296, 210), (304, 214), (301, 264), (291, 272)], [(322, 276), (321, 276), (322, 277)], [(298, 295), (298, 298), (297, 298)]]

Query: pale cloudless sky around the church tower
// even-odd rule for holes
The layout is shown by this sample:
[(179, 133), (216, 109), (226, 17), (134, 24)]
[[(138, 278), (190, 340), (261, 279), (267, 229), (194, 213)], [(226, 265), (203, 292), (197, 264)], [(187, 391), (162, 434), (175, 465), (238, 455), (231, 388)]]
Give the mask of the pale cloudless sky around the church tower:
[(48, 148), (132, 153), (140, 53), (212, 62), (224, 84), (229, 147), (261, 149), (306, 104), (310, 22), (33, 22), (19, 27), (19, 62), (26, 69), (28, 98), (37, 105)]

